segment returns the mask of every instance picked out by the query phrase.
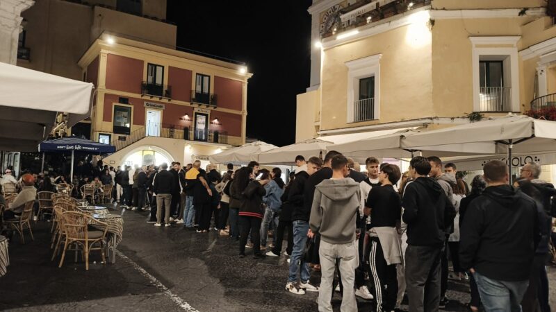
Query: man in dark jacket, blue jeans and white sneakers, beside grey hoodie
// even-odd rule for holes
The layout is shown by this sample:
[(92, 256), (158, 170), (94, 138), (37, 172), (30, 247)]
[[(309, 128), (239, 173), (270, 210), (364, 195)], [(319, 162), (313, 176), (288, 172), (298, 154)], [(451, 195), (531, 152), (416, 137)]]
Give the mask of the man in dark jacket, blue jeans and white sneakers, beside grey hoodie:
[[(288, 194), (288, 202), (293, 205), (292, 223), (293, 223), (293, 250), (290, 258), (290, 271), (288, 275), (288, 283), (286, 284), (286, 291), (294, 293), (295, 295), (304, 295), (305, 291), (318, 291), (309, 283), (309, 263), (303, 259), (303, 252), (307, 241), (307, 232), (309, 232), (309, 216), (311, 210), (306, 210), (304, 202), (305, 187), (309, 176), (316, 173), (322, 166), (322, 160), (318, 157), (309, 158), (307, 163), (307, 171), (300, 171), (295, 173), (295, 180), (291, 184), (290, 193)], [(312, 205), (311, 200), (311, 205)], [(300, 263), (300, 280), (301, 283), (297, 284), (297, 270), (298, 263)]]

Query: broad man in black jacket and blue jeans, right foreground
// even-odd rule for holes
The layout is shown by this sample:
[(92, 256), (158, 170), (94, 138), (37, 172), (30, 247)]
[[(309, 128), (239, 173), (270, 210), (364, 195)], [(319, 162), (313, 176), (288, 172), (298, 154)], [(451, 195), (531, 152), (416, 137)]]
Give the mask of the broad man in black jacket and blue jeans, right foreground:
[(505, 162), (487, 162), (483, 171), (488, 187), (467, 208), (459, 262), (473, 273), (486, 311), (521, 311), (540, 239), (537, 206), (507, 184)]

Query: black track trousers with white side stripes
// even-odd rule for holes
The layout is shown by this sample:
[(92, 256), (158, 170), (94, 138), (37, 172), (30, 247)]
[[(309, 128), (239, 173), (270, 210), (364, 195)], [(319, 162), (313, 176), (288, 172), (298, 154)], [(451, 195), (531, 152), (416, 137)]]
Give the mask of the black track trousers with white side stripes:
[(373, 287), (375, 311), (393, 311), (398, 297), (398, 276), (395, 264), (386, 263), (378, 237), (371, 237), (370, 244), (369, 277), (375, 285)]

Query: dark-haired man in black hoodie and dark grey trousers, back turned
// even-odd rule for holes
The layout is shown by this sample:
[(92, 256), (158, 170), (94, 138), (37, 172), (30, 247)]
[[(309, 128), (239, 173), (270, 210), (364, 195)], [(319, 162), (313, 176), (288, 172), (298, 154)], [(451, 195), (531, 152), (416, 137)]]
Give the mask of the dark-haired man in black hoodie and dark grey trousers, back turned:
[(409, 311), (438, 311), (440, 303), (440, 256), (445, 231), (456, 211), (430, 173), (430, 162), (411, 159), (415, 181), (404, 191), (402, 220), (407, 223), (405, 280)]

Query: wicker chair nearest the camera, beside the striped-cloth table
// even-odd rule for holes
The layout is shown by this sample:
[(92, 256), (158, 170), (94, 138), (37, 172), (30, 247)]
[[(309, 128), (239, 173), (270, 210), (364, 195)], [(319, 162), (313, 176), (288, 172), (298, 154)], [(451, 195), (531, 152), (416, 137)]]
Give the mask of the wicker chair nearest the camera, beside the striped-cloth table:
[[(67, 247), (72, 243), (81, 245), (83, 248), (83, 254), (85, 254), (85, 270), (89, 270), (89, 252), (91, 250), (100, 250), (101, 259), (105, 262), (104, 239), (106, 238), (106, 232), (108, 232), (108, 225), (104, 222), (95, 220), (88, 214), (83, 214), (77, 211), (63, 212), (62, 219), (63, 221), (60, 225), (63, 227), (63, 233), (65, 233), (65, 242), (62, 259), (60, 259), (60, 265), (58, 268), (62, 267)], [(101, 225), (101, 227), (104, 227), (104, 230), (91, 231), (88, 228), (88, 225), (90, 224)], [(99, 248), (92, 248), (95, 244), (99, 244)]]

